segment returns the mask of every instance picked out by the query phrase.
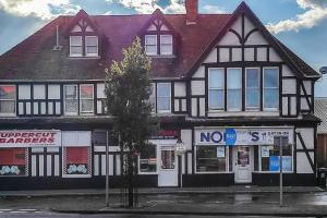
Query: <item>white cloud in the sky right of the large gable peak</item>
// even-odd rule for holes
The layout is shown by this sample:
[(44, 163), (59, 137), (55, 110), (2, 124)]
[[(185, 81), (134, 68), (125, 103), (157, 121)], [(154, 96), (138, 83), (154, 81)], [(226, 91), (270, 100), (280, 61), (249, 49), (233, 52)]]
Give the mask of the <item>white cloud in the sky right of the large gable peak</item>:
[(296, 3), (306, 11), (298, 14), (295, 19), (280, 21), (277, 24), (269, 23), (267, 28), (275, 34), (290, 31), (299, 32), (302, 28), (312, 28), (327, 19), (326, 0), (296, 0)]

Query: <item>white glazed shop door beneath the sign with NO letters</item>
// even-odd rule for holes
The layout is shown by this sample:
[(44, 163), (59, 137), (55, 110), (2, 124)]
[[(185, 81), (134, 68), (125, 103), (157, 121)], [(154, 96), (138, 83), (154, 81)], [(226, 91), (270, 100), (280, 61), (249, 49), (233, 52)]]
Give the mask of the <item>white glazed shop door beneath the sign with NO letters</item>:
[(252, 149), (249, 146), (234, 147), (235, 183), (252, 182)]

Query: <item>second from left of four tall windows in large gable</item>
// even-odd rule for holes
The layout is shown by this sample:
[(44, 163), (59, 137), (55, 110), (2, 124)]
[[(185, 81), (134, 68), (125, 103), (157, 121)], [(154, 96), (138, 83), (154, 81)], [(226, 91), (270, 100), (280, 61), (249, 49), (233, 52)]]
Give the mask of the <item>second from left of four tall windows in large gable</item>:
[(227, 110), (242, 110), (242, 69), (227, 69)]

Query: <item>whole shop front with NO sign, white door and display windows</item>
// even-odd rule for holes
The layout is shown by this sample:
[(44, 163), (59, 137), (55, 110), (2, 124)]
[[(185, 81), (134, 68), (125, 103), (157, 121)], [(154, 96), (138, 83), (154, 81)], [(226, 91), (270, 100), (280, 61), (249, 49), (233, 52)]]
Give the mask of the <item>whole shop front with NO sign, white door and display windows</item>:
[(275, 136), (288, 137), (282, 148), (282, 170), (293, 173), (293, 132), (292, 128), (195, 129), (195, 173), (203, 174), (204, 180), (206, 175), (221, 174), (230, 178), (229, 183), (261, 184), (262, 177), (279, 172)]

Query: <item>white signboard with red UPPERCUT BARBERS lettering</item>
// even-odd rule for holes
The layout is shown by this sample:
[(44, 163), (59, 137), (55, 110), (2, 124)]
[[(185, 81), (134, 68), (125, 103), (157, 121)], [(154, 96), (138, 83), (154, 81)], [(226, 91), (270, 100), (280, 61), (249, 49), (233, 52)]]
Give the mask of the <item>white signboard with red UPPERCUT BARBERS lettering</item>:
[(61, 132), (56, 130), (0, 131), (0, 147), (59, 147)]

